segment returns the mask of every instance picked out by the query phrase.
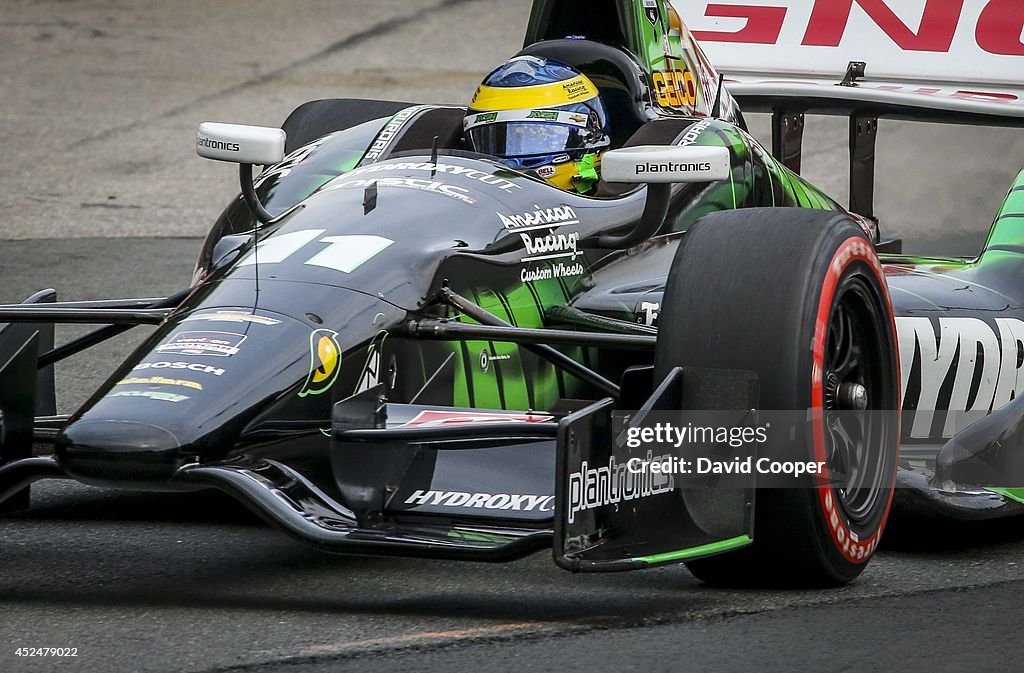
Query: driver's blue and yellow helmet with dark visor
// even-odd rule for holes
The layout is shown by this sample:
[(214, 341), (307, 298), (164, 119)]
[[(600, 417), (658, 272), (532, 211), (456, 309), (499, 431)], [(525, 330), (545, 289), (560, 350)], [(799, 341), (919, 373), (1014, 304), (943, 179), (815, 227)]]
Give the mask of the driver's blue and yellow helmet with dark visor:
[(474, 152), (587, 194), (610, 144), (607, 124), (601, 96), (586, 75), (557, 60), (517, 56), (483, 80), (464, 126)]

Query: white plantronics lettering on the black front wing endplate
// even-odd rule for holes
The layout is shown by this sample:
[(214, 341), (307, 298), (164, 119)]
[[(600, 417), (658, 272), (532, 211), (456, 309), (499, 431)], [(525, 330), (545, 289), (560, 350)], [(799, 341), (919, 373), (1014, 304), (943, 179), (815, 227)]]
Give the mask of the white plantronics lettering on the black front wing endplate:
[[(672, 460), (672, 454), (654, 457), (647, 452), (648, 463), (666, 460)], [(568, 522), (574, 522), (577, 514), (590, 509), (642, 500), (675, 489), (675, 477), (671, 473), (652, 470), (635, 473), (628, 465), (620, 463), (614, 456), (608, 459), (607, 465), (594, 468), (583, 461), (580, 471), (568, 476)]]

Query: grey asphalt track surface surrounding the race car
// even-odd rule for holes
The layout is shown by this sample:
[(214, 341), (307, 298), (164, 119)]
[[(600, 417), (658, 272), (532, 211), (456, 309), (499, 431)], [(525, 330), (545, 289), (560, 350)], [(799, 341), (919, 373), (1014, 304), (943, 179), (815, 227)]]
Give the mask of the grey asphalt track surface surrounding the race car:
[[(0, 2), (0, 301), (162, 296), (236, 191), (200, 121), (278, 125), (319, 97), (468, 98), (524, 0)], [(763, 132), (763, 120), (756, 120)], [(813, 131), (814, 127), (812, 127)], [(807, 173), (842, 197), (845, 131)], [(883, 127), (879, 210), (911, 250), (972, 254), (1017, 131)], [(67, 339), (78, 329), (61, 329)], [(140, 338), (58, 369), (70, 411)], [(572, 576), (318, 554), (217, 494), (36, 488), (0, 519), (0, 671), (963, 671), (1024, 655), (1024, 522), (897, 517), (833, 591), (721, 591), (683, 567)], [(78, 647), (74, 659), (15, 648)]]

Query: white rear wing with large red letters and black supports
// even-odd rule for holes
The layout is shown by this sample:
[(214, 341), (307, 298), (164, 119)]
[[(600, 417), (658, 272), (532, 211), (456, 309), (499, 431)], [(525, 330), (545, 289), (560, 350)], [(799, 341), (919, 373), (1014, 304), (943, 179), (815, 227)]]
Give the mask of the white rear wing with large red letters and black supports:
[[(686, 0), (683, 20), (772, 154), (800, 172), (805, 114), (850, 117), (850, 210), (873, 217), (880, 118), (1024, 126), (1019, 0)], [(896, 250), (893, 250), (896, 252)]]

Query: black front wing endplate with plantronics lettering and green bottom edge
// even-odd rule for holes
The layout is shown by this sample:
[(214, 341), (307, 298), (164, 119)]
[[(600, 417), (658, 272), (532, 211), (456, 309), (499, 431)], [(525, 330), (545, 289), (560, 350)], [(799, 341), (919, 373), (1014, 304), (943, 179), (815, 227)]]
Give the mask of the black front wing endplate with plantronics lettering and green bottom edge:
[[(648, 450), (631, 448), (626, 431), (651, 412), (757, 408), (750, 372), (676, 369), (642, 409), (613, 412), (599, 402), (559, 423), (554, 558), (572, 572), (628, 571), (711, 556), (753, 542), (754, 479), (744, 488), (684, 482), (673, 474), (634, 471)], [(682, 445), (671, 455), (692, 460)]]

